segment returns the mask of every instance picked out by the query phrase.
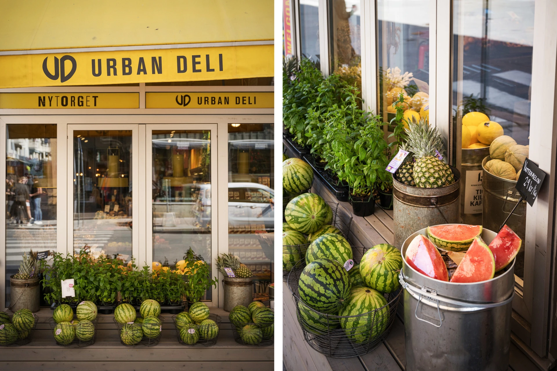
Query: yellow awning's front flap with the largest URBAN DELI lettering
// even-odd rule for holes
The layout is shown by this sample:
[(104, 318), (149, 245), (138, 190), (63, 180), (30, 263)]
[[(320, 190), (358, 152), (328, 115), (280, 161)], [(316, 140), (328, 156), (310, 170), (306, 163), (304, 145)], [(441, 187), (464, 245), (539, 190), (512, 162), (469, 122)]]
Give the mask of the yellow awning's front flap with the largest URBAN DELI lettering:
[(0, 56), (0, 88), (273, 76), (273, 45)]

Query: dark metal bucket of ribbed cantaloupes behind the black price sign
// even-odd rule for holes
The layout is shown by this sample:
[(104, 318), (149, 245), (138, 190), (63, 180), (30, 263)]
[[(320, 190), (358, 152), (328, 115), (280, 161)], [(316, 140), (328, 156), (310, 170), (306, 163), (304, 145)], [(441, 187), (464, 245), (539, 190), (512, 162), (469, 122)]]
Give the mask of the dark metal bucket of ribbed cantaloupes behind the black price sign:
[[(487, 156), (482, 161), (484, 215), (482, 225), (484, 228), (499, 231), (502, 222), (507, 219), (512, 208), (519, 201), (520, 194), (515, 188), (515, 180), (495, 176), (483, 168), (489, 160), (491, 157)], [(526, 241), (526, 201), (522, 201), (522, 205), (516, 207), (506, 224), (522, 241)], [(524, 277), (524, 249), (520, 249), (516, 255), (515, 274)]]

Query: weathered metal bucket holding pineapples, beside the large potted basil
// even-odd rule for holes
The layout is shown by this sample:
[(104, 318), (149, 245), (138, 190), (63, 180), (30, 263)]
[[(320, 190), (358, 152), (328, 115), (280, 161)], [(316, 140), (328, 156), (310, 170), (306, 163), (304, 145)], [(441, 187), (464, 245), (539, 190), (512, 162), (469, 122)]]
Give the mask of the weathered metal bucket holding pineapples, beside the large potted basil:
[(460, 172), (451, 166), (455, 180), (440, 188), (407, 186), (393, 176), (394, 245), (400, 249), (409, 235), (429, 225), (458, 223)]

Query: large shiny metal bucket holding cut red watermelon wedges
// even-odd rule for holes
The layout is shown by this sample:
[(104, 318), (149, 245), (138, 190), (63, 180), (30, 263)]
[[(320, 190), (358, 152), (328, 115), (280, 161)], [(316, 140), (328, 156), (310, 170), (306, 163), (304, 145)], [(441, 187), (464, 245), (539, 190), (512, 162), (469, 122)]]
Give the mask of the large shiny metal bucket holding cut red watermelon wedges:
[[(427, 235), (426, 229), (404, 241), (402, 256), (419, 234)], [(496, 235), (483, 229), (487, 244)], [(407, 371), (509, 369), (514, 261), (491, 280), (462, 284), (429, 278), (404, 260), (399, 278)]]

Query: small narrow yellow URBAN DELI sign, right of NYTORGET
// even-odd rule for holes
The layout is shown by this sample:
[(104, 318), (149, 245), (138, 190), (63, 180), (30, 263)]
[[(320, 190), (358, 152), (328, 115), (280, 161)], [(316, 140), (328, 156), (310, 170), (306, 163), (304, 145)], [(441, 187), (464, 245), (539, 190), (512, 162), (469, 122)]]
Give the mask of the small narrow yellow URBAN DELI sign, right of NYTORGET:
[(273, 108), (273, 92), (145, 93), (145, 108)]

